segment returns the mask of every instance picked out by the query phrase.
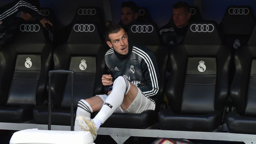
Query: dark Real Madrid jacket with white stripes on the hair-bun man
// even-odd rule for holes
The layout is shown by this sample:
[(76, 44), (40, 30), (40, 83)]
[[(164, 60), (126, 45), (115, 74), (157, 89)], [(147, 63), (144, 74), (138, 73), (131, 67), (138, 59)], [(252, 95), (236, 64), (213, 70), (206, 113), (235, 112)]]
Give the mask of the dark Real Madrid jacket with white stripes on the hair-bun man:
[(159, 72), (155, 55), (148, 48), (129, 41), (128, 54), (121, 55), (111, 48), (105, 54), (105, 63), (114, 79), (124, 76), (146, 96), (157, 94)]

